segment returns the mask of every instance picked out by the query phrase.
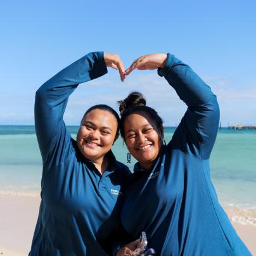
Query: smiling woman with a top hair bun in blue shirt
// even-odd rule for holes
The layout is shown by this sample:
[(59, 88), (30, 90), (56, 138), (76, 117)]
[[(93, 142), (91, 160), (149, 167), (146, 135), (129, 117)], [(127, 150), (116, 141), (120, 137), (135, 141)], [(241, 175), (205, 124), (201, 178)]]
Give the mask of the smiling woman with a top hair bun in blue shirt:
[[(120, 133), (138, 163), (125, 193), (121, 221), (131, 240), (146, 232), (157, 255), (250, 255), (218, 202), (209, 158), (217, 136), (216, 96), (172, 54), (141, 56), (125, 72), (153, 70), (165, 77), (188, 109), (165, 145), (163, 122), (140, 93), (120, 105)], [(132, 255), (138, 241), (117, 255)], [(123, 243), (124, 245), (124, 243)]]

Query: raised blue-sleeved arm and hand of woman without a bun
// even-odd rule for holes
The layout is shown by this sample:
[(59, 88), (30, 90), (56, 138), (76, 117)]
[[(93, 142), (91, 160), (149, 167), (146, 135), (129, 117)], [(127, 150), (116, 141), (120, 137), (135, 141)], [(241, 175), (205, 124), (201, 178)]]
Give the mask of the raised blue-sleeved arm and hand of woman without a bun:
[(124, 80), (124, 67), (118, 55), (103, 52), (89, 53), (61, 70), (45, 82), (35, 94), (35, 132), (42, 160), (45, 163), (53, 154), (60, 160), (70, 143), (63, 115), (68, 97), (83, 82), (96, 79), (107, 73), (106, 66), (118, 69)]

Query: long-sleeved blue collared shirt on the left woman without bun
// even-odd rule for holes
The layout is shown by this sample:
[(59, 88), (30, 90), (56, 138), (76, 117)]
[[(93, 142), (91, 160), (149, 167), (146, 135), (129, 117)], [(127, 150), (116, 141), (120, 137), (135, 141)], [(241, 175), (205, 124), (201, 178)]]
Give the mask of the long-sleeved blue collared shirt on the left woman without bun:
[(129, 170), (110, 151), (110, 165), (101, 176), (80, 153), (63, 121), (68, 96), (80, 83), (106, 72), (103, 53), (89, 53), (54, 75), (35, 95), (43, 171), (31, 256), (112, 254)]

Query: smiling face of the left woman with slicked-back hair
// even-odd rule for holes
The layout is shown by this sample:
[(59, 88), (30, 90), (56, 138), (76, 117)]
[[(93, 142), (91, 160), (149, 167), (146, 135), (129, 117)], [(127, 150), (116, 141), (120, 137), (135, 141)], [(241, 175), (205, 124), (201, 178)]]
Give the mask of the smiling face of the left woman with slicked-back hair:
[(102, 162), (117, 137), (117, 120), (112, 113), (94, 109), (82, 118), (77, 146), (87, 159)]

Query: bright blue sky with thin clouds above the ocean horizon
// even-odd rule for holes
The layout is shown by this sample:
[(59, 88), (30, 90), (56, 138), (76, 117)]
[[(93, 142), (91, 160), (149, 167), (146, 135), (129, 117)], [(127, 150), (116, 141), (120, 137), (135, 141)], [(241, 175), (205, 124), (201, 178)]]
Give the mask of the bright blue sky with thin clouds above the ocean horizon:
[[(217, 94), (222, 125), (256, 125), (255, 1), (5, 1), (0, 10), (0, 124), (34, 124), (41, 84), (91, 51), (118, 53), (126, 67), (147, 53), (173, 53)], [(75, 91), (66, 124), (86, 109), (138, 90), (165, 125), (186, 106), (155, 71), (124, 83), (115, 70)]]

